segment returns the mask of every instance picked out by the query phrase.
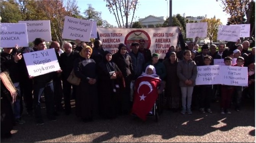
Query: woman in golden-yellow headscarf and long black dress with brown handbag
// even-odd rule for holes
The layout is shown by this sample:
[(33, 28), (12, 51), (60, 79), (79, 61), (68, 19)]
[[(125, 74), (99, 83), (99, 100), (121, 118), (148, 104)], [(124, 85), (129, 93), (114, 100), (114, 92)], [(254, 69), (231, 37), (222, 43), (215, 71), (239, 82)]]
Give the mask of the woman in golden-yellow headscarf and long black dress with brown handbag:
[(90, 59), (91, 54), (92, 48), (86, 46), (74, 60), (74, 73), (81, 79), (77, 87), (76, 115), (84, 122), (92, 121), (98, 111), (96, 63)]

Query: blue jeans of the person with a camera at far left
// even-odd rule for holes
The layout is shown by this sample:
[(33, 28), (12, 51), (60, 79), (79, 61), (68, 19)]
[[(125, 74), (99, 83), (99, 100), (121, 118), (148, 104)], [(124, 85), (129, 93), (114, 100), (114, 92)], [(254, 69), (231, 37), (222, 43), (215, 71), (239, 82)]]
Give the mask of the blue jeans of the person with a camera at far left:
[(19, 84), (15, 83), (15, 87), (17, 89), (18, 96), (16, 97), (16, 101), (13, 103), (13, 114), (15, 119), (19, 119), (21, 117), (21, 90)]

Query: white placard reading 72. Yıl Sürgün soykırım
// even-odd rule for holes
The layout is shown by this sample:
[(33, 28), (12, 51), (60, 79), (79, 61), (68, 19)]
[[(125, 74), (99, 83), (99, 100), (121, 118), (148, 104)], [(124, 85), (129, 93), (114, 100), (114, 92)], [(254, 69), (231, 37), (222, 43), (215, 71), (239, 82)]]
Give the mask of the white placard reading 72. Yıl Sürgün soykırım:
[(60, 69), (54, 48), (25, 53), (23, 56), (30, 76), (40, 76)]

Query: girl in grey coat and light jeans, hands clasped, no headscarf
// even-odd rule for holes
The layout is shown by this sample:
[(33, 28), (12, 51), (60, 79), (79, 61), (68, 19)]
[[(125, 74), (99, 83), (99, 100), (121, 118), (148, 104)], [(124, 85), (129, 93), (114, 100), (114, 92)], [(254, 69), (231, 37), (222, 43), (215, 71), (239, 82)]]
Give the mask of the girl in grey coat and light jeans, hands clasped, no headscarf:
[(191, 51), (185, 50), (183, 60), (177, 65), (177, 75), (179, 77), (179, 85), (182, 94), (182, 111), (181, 114), (192, 114), (191, 101), (193, 88), (197, 75), (196, 63), (191, 59)]

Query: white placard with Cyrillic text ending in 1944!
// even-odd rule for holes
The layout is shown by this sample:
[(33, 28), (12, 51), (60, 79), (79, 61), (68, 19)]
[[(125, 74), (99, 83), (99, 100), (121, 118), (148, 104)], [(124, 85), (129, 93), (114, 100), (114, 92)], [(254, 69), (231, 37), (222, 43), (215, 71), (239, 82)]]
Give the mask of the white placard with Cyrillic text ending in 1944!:
[(219, 65), (214, 66), (198, 66), (196, 85), (209, 85), (209, 84), (219, 84), (222, 82), (222, 77), (220, 74)]

